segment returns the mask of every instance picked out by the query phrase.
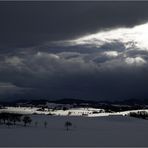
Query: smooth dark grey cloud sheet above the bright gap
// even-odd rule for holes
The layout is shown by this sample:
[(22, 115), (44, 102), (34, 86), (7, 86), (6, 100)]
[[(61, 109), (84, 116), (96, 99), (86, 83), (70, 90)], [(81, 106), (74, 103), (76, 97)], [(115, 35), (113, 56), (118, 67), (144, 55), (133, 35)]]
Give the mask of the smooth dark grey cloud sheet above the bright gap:
[(35, 46), (133, 26), (148, 20), (147, 7), (147, 2), (0, 2), (0, 47)]

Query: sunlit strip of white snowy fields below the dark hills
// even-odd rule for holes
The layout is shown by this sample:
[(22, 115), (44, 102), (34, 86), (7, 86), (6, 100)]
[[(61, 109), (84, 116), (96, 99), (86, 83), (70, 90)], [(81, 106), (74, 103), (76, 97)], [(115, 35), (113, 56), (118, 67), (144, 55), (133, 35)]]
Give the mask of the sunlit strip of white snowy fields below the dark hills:
[(68, 110), (52, 110), (45, 109), (45, 111), (38, 111), (40, 108), (36, 107), (6, 107), (5, 109), (0, 109), (0, 112), (10, 112), (10, 113), (21, 113), (21, 114), (52, 114), (56, 116), (87, 116), (87, 117), (100, 117), (100, 116), (109, 116), (109, 115), (128, 115), (130, 112), (138, 112), (138, 111), (146, 111), (148, 109), (143, 110), (130, 110), (130, 111), (122, 111), (115, 113), (106, 113), (104, 109), (96, 109), (96, 108), (70, 108)]

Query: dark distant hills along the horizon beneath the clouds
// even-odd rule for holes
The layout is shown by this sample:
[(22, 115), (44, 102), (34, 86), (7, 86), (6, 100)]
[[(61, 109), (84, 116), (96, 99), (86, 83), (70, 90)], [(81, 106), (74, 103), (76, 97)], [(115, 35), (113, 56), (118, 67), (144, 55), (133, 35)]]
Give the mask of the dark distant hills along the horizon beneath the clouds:
[(110, 105), (148, 105), (148, 99), (128, 99), (122, 101), (94, 101), (94, 100), (82, 100), (82, 99), (73, 99), (73, 98), (63, 98), (59, 100), (49, 100), (49, 99), (19, 99), (15, 101), (0, 101), (0, 105), (9, 105), (15, 106), (18, 104), (32, 104), (32, 105), (45, 105), (47, 102), (57, 103), (57, 104), (77, 104), (77, 105), (90, 105), (93, 107), (99, 106), (110, 106)]

